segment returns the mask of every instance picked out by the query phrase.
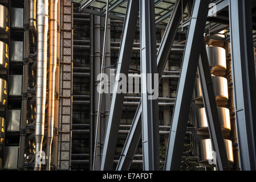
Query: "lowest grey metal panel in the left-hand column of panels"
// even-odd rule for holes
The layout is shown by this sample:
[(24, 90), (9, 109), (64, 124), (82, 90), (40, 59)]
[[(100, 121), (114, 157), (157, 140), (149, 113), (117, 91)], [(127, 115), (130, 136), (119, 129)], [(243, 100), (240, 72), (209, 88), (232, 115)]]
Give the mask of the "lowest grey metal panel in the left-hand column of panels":
[(18, 146), (6, 146), (5, 153), (3, 156), (3, 166), (7, 169), (17, 169), (18, 168)]

